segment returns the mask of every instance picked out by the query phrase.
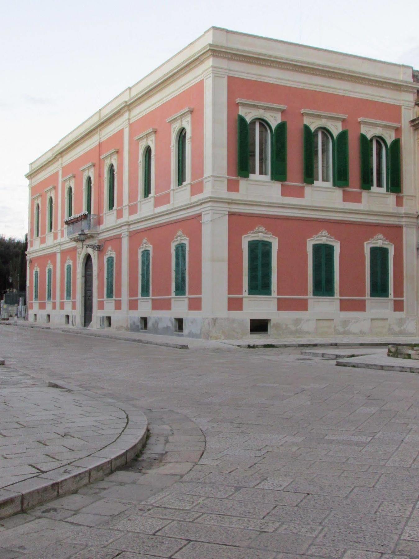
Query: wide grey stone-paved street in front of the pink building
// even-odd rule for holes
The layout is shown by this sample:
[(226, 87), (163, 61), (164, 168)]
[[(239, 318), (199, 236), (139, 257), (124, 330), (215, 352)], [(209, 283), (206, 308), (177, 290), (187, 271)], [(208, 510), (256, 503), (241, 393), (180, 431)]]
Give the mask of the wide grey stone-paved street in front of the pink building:
[(3, 520), (2, 559), (419, 556), (412, 373), (10, 327), (0, 348), (44, 381), (138, 406), (151, 432), (124, 470)]

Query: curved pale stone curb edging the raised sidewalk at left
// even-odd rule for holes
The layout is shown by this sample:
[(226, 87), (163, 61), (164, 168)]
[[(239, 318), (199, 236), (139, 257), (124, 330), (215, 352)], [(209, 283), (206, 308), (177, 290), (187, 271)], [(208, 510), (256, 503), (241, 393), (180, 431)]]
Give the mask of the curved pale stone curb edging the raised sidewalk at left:
[[(49, 382), (48, 386), (92, 395), (91, 392), (63, 382)], [(95, 396), (98, 397), (97, 394)], [(115, 400), (107, 400), (117, 404), (128, 417), (128, 423), (119, 437), (99, 451), (75, 459), (67, 466), (40, 473), (0, 489), (0, 519), (22, 513), (36, 505), (73, 493), (84, 485), (102, 480), (125, 466), (139, 453), (147, 438), (147, 418), (138, 409), (131, 406), (122, 408)], [(126, 407), (129, 407), (129, 413)]]

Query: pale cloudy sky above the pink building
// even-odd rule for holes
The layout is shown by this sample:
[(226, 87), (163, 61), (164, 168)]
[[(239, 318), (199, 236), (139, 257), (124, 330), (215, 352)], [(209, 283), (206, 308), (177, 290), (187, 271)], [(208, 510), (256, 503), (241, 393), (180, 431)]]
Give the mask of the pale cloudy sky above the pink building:
[(0, 0), (0, 235), (27, 232), (29, 163), (211, 26), (419, 69), (413, 0)]

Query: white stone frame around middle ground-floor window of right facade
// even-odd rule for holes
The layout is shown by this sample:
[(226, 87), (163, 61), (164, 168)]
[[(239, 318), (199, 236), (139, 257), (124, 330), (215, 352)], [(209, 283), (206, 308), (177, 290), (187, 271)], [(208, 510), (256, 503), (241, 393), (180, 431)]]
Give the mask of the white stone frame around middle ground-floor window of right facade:
[[(335, 294), (332, 297), (318, 297), (313, 295), (313, 246), (315, 244), (329, 244), (335, 247)], [(307, 255), (308, 255), (308, 295), (309, 295), (309, 311), (339, 311), (339, 256), (341, 243), (326, 230), (320, 231), (311, 239), (307, 239)]]

